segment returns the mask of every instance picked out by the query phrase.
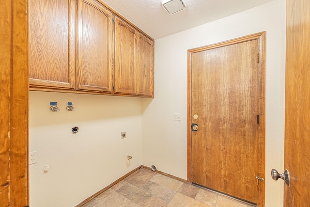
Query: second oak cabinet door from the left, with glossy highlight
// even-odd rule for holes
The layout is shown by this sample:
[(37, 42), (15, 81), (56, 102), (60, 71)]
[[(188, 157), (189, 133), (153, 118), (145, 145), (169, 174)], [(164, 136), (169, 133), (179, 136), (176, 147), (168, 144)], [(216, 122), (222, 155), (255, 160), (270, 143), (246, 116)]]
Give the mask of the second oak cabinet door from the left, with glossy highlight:
[(112, 14), (95, 0), (78, 0), (78, 90), (111, 92)]

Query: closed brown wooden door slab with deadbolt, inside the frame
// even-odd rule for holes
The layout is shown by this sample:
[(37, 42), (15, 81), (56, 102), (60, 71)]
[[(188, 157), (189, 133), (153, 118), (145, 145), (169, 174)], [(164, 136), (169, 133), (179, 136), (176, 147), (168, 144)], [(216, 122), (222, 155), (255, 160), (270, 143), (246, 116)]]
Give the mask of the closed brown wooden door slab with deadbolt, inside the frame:
[(259, 203), (259, 40), (190, 53), (191, 181)]

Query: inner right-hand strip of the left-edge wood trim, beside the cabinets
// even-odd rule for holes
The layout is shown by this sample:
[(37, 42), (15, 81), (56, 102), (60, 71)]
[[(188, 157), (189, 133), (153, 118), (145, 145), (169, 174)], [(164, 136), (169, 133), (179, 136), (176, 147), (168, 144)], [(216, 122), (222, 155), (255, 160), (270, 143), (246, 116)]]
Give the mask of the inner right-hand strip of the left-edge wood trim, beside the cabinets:
[(27, 1), (14, 0), (11, 47), (11, 203), (29, 204), (28, 111), (29, 75), (27, 45)]

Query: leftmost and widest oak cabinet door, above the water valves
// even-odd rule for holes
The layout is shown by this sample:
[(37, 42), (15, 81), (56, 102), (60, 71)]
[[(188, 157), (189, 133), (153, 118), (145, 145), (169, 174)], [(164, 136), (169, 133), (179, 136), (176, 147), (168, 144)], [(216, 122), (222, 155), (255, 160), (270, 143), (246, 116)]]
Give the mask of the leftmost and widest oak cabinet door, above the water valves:
[(28, 2), (30, 87), (74, 89), (76, 1)]

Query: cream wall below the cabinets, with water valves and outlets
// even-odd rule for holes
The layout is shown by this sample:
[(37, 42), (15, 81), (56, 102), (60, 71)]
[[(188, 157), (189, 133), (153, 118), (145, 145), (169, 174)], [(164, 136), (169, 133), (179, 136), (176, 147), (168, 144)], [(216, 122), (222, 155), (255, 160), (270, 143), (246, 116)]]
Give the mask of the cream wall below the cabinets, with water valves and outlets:
[(141, 98), (31, 91), (29, 114), (31, 207), (73, 207), (142, 163)]

